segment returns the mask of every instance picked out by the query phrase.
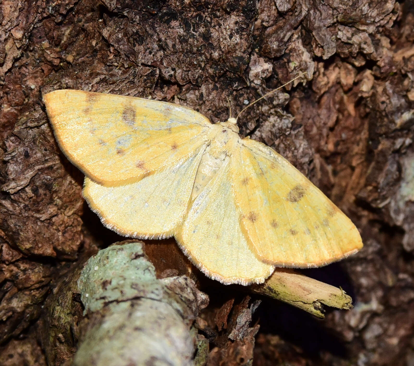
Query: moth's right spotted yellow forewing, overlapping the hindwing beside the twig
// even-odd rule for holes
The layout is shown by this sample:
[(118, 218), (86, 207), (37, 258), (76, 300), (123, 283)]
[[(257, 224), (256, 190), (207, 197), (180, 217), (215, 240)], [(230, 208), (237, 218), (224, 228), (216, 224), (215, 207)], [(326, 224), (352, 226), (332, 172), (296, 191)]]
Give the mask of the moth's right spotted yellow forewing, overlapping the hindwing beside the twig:
[(234, 197), (243, 232), (259, 259), (315, 267), (361, 249), (355, 225), (302, 173), (270, 147), (239, 141), (230, 165)]

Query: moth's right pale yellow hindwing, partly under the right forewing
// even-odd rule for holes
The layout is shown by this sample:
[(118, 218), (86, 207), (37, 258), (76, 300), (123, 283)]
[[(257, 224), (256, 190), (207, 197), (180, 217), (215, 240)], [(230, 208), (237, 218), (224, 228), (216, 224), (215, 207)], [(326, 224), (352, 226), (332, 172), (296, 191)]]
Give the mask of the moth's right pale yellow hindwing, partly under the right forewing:
[(229, 159), (195, 198), (175, 237), (184, 253), (222, 283), (262, 283), (274, 266), (258, 260), (241, 232), (229, 179)]

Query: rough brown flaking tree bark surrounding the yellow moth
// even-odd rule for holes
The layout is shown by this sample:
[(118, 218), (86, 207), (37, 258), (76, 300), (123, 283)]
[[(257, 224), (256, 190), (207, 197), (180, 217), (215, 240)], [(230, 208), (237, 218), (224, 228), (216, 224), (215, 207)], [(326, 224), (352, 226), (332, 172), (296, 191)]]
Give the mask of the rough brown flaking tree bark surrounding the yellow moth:
[[(58, 150), (41, 94), (151, 96), (217, 122), (226, 98), (238, 112), (306, 72), (305, 85), (244, 112), (241, 133), (274, 147), (359, 227), (359, 254), (303, 271), (355, 304), (321, 323), (262, 299), (254, 364), (412, 365), (413, 9), (411, 0), (0, 2), (0, 364), (45, 365), (36, 339), (46, 349), (50, 335), (35, 322), (50, 321), (46, 298), (79, 253), (118, 239), (82, 204), (82, 175)], [(196, 321), (197, 363), (249, 364), (255, 299), (178, 262), (155, 264), (159, 276), (190, 271), (211, 299)], [(53, 332), (65, 346), (49, 361), (63, 363), (70, 332)]]

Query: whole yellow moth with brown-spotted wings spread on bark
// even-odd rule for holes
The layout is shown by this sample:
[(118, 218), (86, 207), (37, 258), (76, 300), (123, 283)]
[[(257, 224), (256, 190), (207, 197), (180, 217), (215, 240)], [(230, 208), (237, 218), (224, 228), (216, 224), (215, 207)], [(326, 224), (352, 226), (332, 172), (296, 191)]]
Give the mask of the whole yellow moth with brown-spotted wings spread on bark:
[(362, 247), (355, 225), (276, 151), (168, 102), (82, 90), (43, 98), (60, 149), (84, 174), (103, 224), (174, 236), (222, 283), (262, 283), (275, 266), (329, 264)]

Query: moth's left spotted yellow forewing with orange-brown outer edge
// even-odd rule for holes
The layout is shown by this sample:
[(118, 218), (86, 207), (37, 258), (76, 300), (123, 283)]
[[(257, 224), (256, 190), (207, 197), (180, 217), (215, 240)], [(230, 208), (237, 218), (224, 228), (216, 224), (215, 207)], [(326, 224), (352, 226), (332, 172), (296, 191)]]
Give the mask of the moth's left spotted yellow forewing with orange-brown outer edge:
[(55, 90), (43, 100), (62, 151), (104, 185), (138, 181), (192, 156), (212, 126), (194, 110), (156, 100), (82, 90)]

